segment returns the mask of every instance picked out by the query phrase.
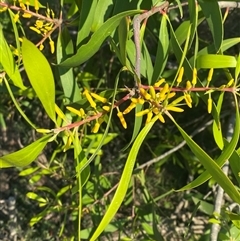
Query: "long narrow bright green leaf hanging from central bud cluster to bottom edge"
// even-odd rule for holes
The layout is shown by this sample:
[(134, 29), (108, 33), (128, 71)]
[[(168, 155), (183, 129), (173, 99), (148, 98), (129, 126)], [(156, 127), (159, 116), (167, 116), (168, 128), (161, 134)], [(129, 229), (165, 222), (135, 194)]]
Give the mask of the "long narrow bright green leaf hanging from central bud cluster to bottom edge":
[(112, 220), (114, 215), (117, 213), (121, 203), (126, 195), (129, 182), (132, 177), (133, 168), (135, 165), (136, 157), (139, 151), (140, 146), (142, 145), (143, 140), (146, 138), (148, 132), (151, 130), (153, 124), (157, 118), (155, 117), (149, 124), (147, 124), (139, 133), (138, 137), (133, 143), (133, 146), (130, 150), (128, 155), (121, 179), (119, 181), (118, 188), (116, 193), (106, 211), (103, 219), (101, 220), (100, 224), (97, 227), (97, 230), (94, 232), (93, 236), (91, 237), (90, 241), (94, 241), (98, 238), (98, 236), (103, 232), (109, 222)]

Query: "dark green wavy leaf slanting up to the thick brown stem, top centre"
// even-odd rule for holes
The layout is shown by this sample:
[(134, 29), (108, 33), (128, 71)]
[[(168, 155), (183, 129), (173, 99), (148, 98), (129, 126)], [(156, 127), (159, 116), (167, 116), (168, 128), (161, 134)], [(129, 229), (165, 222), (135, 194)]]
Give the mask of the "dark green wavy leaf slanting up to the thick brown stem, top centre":
[(90, 40), (78, 49), (75, 55), (66, 59), (60, 65), (65, 67), (75, 67), (84, 63), (99, 50), (103, 41), (112, 34), (124, 17), (141, 12), (141, 10), (126, 11), (108, 19), (95, 33), (93, 33)]

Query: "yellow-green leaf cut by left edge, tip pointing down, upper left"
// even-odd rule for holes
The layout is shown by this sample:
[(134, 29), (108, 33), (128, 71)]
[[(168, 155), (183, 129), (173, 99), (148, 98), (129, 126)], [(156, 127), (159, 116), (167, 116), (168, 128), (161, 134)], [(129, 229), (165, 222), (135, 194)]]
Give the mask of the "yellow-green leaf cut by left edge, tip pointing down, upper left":
[(3, 66), (13, 84), (20, 89), (26, 89), (23, 85), (18, 66), (15, 64), (12, 51), (4, 38), (2, 25), (0, 24), (0, 64)]

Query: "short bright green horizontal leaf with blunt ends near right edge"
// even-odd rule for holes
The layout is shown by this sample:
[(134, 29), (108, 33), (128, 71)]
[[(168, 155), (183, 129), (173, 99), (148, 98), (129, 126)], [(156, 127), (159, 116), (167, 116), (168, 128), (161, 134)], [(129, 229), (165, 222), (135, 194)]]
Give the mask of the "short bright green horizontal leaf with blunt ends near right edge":
[(229, 55), (206, 54), (197, 58), (197, 68), (199, 69), (235, 68), (236, 64), (236, 58)]

